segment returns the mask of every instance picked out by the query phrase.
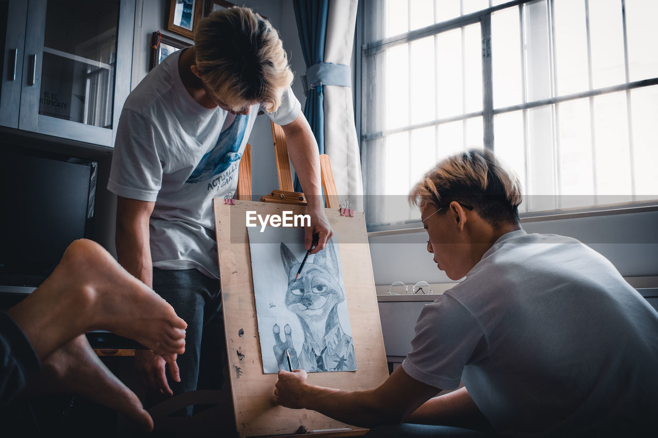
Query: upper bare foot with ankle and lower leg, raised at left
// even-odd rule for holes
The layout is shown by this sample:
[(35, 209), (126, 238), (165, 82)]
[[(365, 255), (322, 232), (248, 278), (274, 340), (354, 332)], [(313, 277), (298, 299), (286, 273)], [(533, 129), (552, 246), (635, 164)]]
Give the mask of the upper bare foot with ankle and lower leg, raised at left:
[(187, 324), (93, 241), (74, 241), (55, 271), (7, 313), (41, 360), (82, 333), (105, 329), (135, 339), (168, 362), (185, 351)]

